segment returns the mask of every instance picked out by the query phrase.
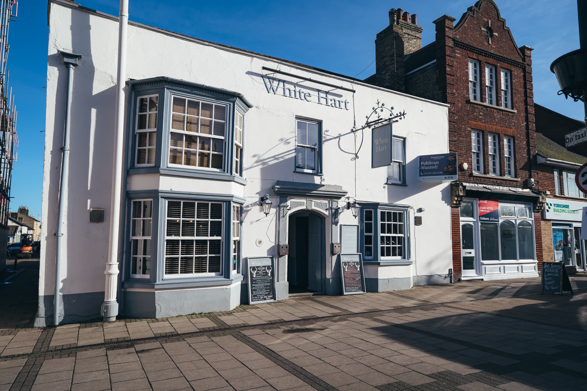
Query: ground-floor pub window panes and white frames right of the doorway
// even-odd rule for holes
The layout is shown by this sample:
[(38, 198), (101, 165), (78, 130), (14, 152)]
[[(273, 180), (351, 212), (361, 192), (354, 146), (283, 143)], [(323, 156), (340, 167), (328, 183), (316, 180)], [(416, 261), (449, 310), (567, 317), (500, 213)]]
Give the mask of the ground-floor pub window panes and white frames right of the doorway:
[(408, 216), (406, 210), (363, 209), (363, 257), (382, 261), (409, 259)]

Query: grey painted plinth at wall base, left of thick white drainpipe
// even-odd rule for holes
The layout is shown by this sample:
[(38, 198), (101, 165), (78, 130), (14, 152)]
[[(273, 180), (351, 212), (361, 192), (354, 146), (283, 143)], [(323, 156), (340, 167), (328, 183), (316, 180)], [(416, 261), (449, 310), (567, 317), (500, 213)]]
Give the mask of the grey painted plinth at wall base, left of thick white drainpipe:
[[(39, 296), (39, 310), (35, 317), (34, 327), (53, 325), (53, 297), (55, 296)], [(103, 302), (104, 292), (60, 295), (59, 324), (76, 323), (101, 318), (100, 307)]]

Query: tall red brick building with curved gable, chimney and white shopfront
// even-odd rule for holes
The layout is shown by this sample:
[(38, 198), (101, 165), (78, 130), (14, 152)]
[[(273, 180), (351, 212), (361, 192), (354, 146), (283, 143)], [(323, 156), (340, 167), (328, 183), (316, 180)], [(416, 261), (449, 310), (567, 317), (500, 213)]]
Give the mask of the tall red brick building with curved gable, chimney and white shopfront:
[[(376, 74), (366, 80), (450, 104), (453, 271), (463, 280), (536, 277), (543, 259), (532, 48), (518, 46), (495, 2), (456, 22), (434, 21), (421, 47), (416, 15), (392, 9), (377, 34)], [(456, 23), (455, 23), (456, 22)]]

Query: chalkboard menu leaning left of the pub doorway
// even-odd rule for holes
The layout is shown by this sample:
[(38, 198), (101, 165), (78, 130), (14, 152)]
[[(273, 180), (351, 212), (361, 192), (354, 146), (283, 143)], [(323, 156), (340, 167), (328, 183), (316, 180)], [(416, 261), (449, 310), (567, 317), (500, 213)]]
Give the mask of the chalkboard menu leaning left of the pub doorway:
[(249, 304), (275, 301), (273, 257), (248, 257)]

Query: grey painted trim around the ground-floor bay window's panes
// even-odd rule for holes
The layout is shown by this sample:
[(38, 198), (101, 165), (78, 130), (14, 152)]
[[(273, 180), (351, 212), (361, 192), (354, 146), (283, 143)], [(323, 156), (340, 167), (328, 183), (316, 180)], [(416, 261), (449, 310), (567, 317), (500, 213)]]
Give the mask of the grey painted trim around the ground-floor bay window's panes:
[[(208, 287), (215, 285), (230, 285), (242, 280), (242, 234), (239, 241), (237, 271), (232, 273), (232, 218), (230, 223), (222, 226), (222, 274), (220, 276), (190, 276), (185, 278), (165, 278), (165, 229), (166, 229), (166, 203), (167, 200), (205, 200), (221, 202), (224, 218), (232, 216), (232, 205), (241, 206), (240, 225), (242, 232), (242, 207), (245, 199), (231, 194), (175, 192), (163, 190), (129, 191), (127, 192), (126, 216), (127, 222), (131, 221), (131, 205), (133, 200), (153, 200), (153, 226), (151, 229), (151, 275), (150, 278), (130, 277), (130, 230), (126, 230), (124, 237), (124, 267), (123, 287), (154, 287), (157, 288), (183, 288), (183, 287)], [(128, 247), (128, 248), (127, 248)]]

